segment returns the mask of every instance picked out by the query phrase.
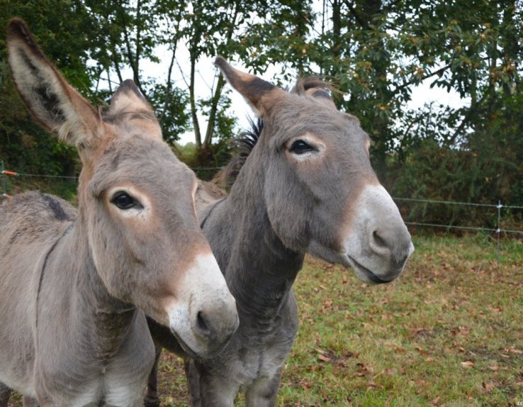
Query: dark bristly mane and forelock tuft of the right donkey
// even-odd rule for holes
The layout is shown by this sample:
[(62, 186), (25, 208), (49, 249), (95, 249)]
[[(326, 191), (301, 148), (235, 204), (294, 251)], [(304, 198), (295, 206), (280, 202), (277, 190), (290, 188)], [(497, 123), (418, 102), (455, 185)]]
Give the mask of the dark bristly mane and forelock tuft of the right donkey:
[[(313, 96), (305, 94), (308, 89), (317, 89), (314, 92)], [(340, 94), (330, 82), (325, 82), (320, 77), (307, 77), (307, 78), (298, 78), (296, 84), (289, 91), (291, 94), (296, 94), (303, 97), (329, 97), (330, 93), (335, 92)], [(236, 147), (237, 152), (232, 156), (229, 163), (225, 168), (221, 169), (218, 174), (216, 174), (214, 180), (220, 186), (232, 186), (235, 183), (235, 180), (240, 174), (247, 157), (252, 152), (252, 149), (259, 140), (262, 131), (264, 130), (264, 121), (262, 118), (257, 118), (254, 120), (252, 118), (247, 118), (249, 121), (249, 128), (240, 131), (238, 137), (232, 140), (232, 144)]]

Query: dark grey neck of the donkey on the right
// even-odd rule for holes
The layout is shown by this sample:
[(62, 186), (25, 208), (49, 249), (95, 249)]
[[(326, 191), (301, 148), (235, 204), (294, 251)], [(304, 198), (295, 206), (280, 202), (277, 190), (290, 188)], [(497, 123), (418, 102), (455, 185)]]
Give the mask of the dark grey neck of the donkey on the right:
[(279, 315), (304, 255), (288, 250), (271, 228), (265, 181), (255, 170), (245, 163), (227, 199), (208, 212), (203, 230), (235, 296), (240, 320), (248, 314), (262, 326)]

